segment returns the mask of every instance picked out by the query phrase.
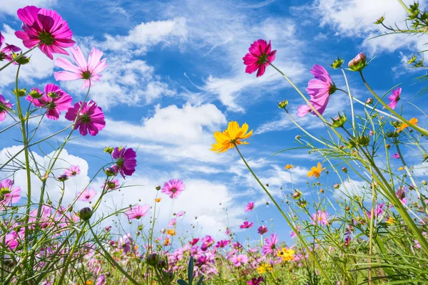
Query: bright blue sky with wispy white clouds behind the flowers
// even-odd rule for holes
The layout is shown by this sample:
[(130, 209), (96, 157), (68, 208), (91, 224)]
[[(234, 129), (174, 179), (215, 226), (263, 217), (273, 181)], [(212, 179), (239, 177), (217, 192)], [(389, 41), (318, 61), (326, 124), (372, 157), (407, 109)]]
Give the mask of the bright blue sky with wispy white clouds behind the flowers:
[[(301, 90), (312, 78), (309, 70), (314, 64), (327, 68), (337, 56), (347, 63), (360, 51), (376, 56), (365, 76), (378, 93), (402, 83), (402, 98), (411, 100), (421, 88), (412, 85), (412, 78), (420, 73), (405, 68), (404, 62), (415, 51), (425, 49), (424, 38), (398, 35), (370, 39), (382, 32), (381, 27), (372, 24), (379, 16), (384, 15), (387, 24), (403, 24), (404, 10), (395, 1), (118, 0), (103, 1), (102, 6), (98, 1), (5, 1), (0, 7), (0, 23), (4, 23), (0, 28), (6, 42), (22, 46), (13, 36), (20, 28), (16, 9), (33, 4), (58, 11), (68, 21), (84, 53), (95, 46), (107, 58), (108, 68), (101, 83), (89, 96), (103, 107), (107, 126), (94, 138), (79, 138), (76, 133), (78, 139), (67, 145), (58, 167), (81, 164), (83, 172), (81, 177), (68, 180), (66, 197), (72, 199), (108, 158), (102, 152), (104, 147), (138, 147), (136, 174), (126, 180), (127, 185), (138, 186), (106, 197), (104, 209), (113, 204), (124, 207), (138, 199), (141, 204), (153, 204), (155, 185), (178, 177), (187, 186), (174, 204), (175, 212), (187, 212), (180, 227), (198, 222), (203, 234), (218, 234), (227, 226), (237, 229), (245, 217), (255, 224), (272, 218), (272, 230), (282, 239), (288, 239), (290, 232), (277, 210), (265, 205), (267, 197), (238, 155), (234, 151), (210, 152), (213, 132), (225, 128), (229, 120), (246, 122), (254, 129), (255, 135), (248, 140), (250, 145), (241, 150), (277, 197), (292, 192), (284, 165), (296, 165), (293, 182), (307, 190), (307, 170), (318, 162), (316, 155), (305, 151), (272, 156), (279, 150), (296, 147), (294, 138), (300, 134), (276, 104), (289, 100), (291, 113), (295, 114), (303, 102), (272, 68), (267, 68), (261, 78), (245, 73), (242, 58), (250, 43), (258, 38), (271, 40), (272, 48), (277, 49), (275, 66)], [(31, 59), (31, 65), (21, 73), (20, 87), (41, 88), (55, 83), (53, 61), (40, 51), (35, 51)], [(327, 70), (336, 85), (345, 89), (340, 71)], [(357, 73), (348, 76), (353, 94), (360, 100), (368, 98)], [(12, 101), (13, 77), (14, 68), (0, 73), (0, 93)], [(73, 102), (83, 98), (81, 82), (58, 84), (73, 97)], [(424, 106), (423, 98), (412, 100)], [(403, 104), (402, 100), (399, 107)], [(338, 111), (348, 113), (349, 109), (349, 100), (336, 93), (326, 114), (332, 117)], [(409, 115), (414, 111), (410, 105), (405, 110)], [(315, 120), (307, 115), (298, 121), (315, 135), (325, 135), (325, 129)], [(1, 128), (6, 123), (1, 123)], [(63, 118), (46, 122), (39, 131), (40, 138), (64, 126)], [(19, 133), (10, 130), (1, 136), (0, 162), (4, 162), (6, 152), (16, 151), (17, 147), (12, 146), (19, 145), (9, 138), (19, 139)], [(42, 151), (51, 150), (47, 145), (34, 150), (41, 161), (46, 160)], [(22, 177), (18, 172), (16, 182)], [(98, 189), (99, 185), (101, 178), (93, 187)], [(25, 185), (21, 187), (25, 190)], [(57, 192), (51, 185), (51, 196), (58, 197)], [(34, 197), (37, 194), (36, 190)], [(336, 199), (334, 193), (327, 195)], [(255, 212), (250, 214), (244, 212), (248, 201), (256, 202)], [(170, 200), (163, 196), (160, 218), (165, 227), (169, 212)], [(256, 228), (238, 236), (257, 237)]]

